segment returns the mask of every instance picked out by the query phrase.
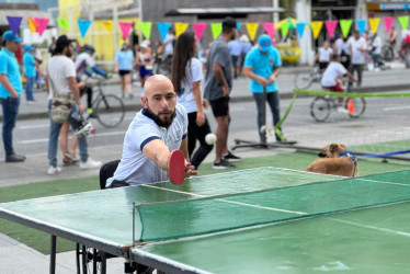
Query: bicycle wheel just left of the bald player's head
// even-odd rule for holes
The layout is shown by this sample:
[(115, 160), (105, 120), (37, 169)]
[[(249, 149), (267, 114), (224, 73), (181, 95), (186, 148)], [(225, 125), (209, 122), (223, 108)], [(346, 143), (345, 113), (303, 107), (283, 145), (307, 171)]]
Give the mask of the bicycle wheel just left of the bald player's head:
[(95, 105), (96, 118), (105, 127), (116, 127), (123, 122), (125, 116), (125, 106), (123, 100), (116, 95), (102, 94)]

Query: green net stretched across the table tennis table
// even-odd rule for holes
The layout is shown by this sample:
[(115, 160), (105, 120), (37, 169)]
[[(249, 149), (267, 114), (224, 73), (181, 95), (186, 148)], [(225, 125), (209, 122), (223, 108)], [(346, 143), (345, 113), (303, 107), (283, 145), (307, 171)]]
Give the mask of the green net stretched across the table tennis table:
[[(137, 206), (139, 242), (178, 239), (410, 201), (410, 171)], [(139, 216), (138, 216), (139, 215)]]

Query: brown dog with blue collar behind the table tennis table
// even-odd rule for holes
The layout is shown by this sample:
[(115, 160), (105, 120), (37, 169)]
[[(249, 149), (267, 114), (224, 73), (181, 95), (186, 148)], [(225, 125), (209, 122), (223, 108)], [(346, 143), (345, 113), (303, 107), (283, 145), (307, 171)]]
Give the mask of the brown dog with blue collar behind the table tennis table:
[(341, 176), (358, 176), (356, 157), (346, 147), (331, 142), (319, 153), (322, 159), (315, 160), (306, 171)]

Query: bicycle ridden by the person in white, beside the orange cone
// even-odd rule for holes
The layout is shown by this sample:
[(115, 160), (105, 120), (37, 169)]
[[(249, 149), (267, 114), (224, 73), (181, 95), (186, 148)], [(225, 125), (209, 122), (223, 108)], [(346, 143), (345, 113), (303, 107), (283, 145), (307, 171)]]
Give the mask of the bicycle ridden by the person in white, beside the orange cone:
[[(366, 110), (364, 98), (344, 98), (343, 103), (351, 118), (358, 118)], [(310, 103), (310, 115), (317, 122), (324, 122), (332, 111), (338, 111), (340, 102), (338, 96), (324, 95), (316, 96)]]

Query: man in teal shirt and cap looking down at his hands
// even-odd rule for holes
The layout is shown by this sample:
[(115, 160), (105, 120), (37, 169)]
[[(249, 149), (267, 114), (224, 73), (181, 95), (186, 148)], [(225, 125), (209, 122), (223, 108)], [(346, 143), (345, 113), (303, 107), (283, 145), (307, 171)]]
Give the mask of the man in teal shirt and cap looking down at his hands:
[[(267, 104), (271, 107), (273, 115), (273, 125), (281, 121), (280, 96), (277, 91), (276, 78), (281, 72), (282, 59), (280, 52), (272, 47), (271, 37), (261, 35), (258, 41), (258, 46), (252, 48), (243, 65), (243, 73), (250, 79), (249, 90), (253, 94), (253, 99), (258, 109), (258, 132), (261, 144), (266, 142), (266, 134), (260, 130), (265, 122), (265, 107)], [(266, 98), (263, 90), (266, 91)], [(281, 137), (276, 135), (276, 141), (281, 141)]]

